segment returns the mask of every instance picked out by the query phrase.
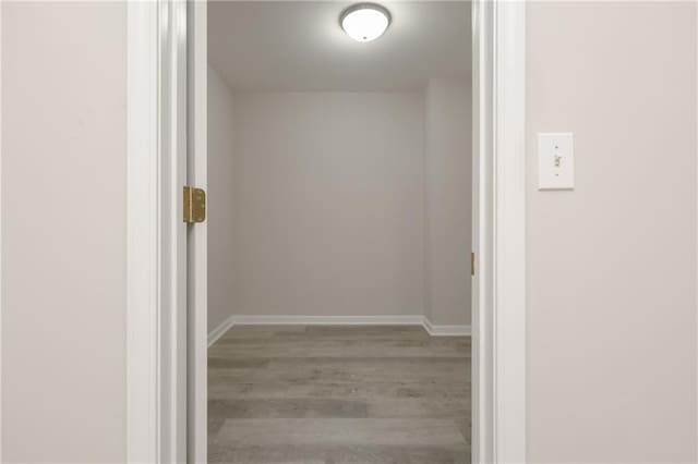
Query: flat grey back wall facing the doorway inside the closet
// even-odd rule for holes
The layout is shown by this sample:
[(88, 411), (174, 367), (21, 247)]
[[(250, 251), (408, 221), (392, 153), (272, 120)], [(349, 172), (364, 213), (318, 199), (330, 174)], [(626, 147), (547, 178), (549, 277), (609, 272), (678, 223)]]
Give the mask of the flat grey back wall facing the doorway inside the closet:
[(234, 95), (231, 308), (421, 315), (421, 93)]

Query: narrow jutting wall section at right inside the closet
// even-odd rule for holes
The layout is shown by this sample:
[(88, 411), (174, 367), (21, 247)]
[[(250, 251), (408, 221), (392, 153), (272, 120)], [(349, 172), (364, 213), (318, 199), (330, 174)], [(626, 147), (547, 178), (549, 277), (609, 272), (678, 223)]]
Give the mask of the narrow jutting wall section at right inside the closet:
[(430, 80), (425, 108), (425, 314), (434, 325), (470, 323), (471, 90)]

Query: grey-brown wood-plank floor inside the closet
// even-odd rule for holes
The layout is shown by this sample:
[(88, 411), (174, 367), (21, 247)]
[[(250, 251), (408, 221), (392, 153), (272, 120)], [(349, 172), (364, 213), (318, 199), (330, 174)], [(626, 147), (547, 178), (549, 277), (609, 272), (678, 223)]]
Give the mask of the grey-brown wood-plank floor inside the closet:
[(208, 460), (470, 463), (470, 338), (236, 326), (208, 350)]

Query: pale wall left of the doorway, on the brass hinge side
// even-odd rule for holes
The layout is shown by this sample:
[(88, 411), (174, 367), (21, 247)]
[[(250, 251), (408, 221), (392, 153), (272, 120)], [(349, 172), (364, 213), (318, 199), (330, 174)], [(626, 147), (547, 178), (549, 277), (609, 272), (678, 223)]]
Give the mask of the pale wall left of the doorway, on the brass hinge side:
[(0, 457), (124, 462), (127, 8), (1, 8)]

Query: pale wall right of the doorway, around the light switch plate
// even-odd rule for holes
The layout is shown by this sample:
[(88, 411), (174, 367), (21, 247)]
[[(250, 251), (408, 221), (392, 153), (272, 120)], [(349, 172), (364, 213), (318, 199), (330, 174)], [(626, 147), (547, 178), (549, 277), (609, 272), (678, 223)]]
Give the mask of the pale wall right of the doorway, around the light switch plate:
[[(696, 462), (696, 4), (532, 2), (528, 442), (535, 463)], [(538, 192), (535, 133), (575, 133)]]

